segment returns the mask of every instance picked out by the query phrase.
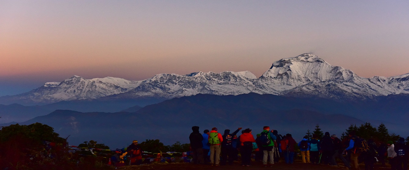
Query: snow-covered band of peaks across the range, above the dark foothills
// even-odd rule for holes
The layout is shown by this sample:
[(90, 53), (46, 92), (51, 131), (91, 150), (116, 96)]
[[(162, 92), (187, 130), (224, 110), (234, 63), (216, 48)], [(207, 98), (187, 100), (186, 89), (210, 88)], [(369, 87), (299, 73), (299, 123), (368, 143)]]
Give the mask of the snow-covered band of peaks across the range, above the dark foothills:
[(7, 99), (51, 103), (102, 97), (175, 98), (196, 94), (238, 95), (250, 92), (362, 100), (388, 94), (409, 93), (409, 74), (364, 78), (351, 70), (330, 65), (313, 54), (301, 54), (274, 62), (259, 78), (248, 71), (157, 74), (143, 81), (127, 81), (112, 77), (86, 80), (74, 76), (61, 83), (45, 83), (43, 87), (24, 94), (8, 96)]

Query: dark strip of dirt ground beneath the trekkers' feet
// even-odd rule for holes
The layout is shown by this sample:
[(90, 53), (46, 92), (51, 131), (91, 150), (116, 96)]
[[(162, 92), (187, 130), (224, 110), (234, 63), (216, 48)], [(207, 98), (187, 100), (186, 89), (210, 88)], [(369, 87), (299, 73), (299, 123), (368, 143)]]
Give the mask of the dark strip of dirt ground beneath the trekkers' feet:
[[(193, 163), (156, 163), (141, 166), (123, 166), (117, 167), (117, 170), (348, 170), (342, 163), (338, 166), (329, 165), (312, 165), (310, 163), (294, 162), (293, 164), (285, 164), (284, 162), (275, 163), (273, 167), (263, 167), (261, 162), (252, 162), (253, 166), (240, 166), (239, 162), (234, 162), (233, 165), (211, 166), (211, 165), (194, 165)], [(360, 169), (364, 170), (364, 164), (360, 164)], [(375, 164), (375, 170), (389, 170), (390, 167), (380, 167)]]

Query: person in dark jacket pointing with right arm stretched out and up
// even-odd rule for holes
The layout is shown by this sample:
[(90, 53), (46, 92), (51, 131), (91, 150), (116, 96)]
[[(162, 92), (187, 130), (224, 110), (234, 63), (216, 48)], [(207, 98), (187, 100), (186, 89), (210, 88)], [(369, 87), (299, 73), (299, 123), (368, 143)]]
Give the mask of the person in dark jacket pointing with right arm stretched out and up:
[[(221, 158), (221, 165), (226, 165), (227, 160), (229, 160), (229, 165), (233, 164), (234, 161), (234, 148), (233, 148), (233, 136), (238, 133), (242, 128), (238, 128), (236, 131), (230, 134), (230, 130), (226, 129), (225, 133), (222, 135), (223, 142), (222, 142), (222, 158)], [(228, 157), (228, 158), (227, 158)]]

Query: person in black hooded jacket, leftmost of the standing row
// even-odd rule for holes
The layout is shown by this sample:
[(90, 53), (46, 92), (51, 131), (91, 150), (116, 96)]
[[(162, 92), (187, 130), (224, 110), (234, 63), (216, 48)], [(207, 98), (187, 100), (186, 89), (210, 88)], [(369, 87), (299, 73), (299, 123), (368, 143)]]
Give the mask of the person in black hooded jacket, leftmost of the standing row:
[(193, 132), (190, 134), (190, 147), (193, 152), (193, 163), (201, 164), (203, 160), (203, 136), (199, 132), (199, 126), (192, 127)]

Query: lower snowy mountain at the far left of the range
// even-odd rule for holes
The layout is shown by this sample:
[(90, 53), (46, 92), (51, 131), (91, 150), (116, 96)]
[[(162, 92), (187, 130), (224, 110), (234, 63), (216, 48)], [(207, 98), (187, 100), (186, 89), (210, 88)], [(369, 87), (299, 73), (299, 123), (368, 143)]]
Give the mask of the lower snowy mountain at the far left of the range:
[(48, 82), (44, 86), (30, 92), (3, 96), (9, 100), (20, 101), (19, 103), (47, 104), (63, 100), (93, 99), (112, 94), (120, 94), (135, 89), (142, 81), (128, 81), (123, 78), (93, 78), (90, 80), (80, 76), (73, 76), (61, 83)]

